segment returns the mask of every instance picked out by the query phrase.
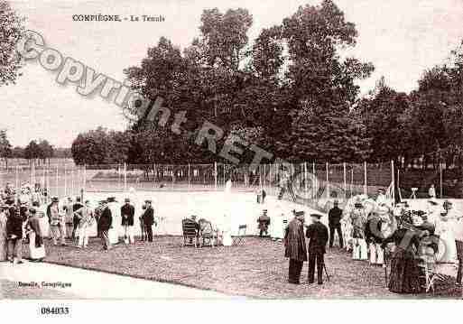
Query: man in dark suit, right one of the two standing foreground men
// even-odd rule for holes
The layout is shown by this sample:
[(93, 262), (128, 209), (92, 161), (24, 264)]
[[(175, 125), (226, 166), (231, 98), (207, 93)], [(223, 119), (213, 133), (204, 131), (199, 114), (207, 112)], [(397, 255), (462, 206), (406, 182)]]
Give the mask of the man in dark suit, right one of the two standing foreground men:
[(323, 264), (325, 263), (324, 255), (328, 242), (328, 228), (320, 223), (319, 214), (311, 214), (312, 224), (307, 227), (306, 236), (309, 242), (309, 283), (314, 282), (315, 264), (317, 264), (317, 279), (319, 284), (323, 283)]

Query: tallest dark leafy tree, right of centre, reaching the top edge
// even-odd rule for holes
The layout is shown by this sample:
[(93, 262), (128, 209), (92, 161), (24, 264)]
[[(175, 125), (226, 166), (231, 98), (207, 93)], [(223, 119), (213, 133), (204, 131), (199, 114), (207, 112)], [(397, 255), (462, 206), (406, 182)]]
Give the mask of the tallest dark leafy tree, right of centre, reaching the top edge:
[(306, 5), (282, 23), (291, 64), (292, 125), (280, 142), (292, 160), (361, 161), (368, 156), (366, 127), (350, 112), (359, 92), (356, 79), (373, 66), (341, 60), (339, 50), (356, 44), (357, 30), (330, 0)]

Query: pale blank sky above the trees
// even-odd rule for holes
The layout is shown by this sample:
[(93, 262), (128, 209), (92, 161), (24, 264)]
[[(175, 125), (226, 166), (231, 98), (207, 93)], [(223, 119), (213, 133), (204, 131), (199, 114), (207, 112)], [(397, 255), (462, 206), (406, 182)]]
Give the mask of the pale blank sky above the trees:
[[(204, 9), (245, 7), (254, 17), (249, 32), (252, 42), (266, 27), (279, 24), (299, 5), (319, 0), (10, 0), (25, 26), (40, 32), (46, 45), (123, 81), (123, 69), (138, 65), (149, 47), (165, 36), (181, 48), (199, 35)], [(375, 87), (384, 76), (398, 91), (417, 86), (424, 69), (448, 60), (450, 51), (463, 39), (463, 0), (335, 0), (356, 23), (357, 46), (351, 51), (360, 60), (371, 61), (375, 73), (359, 83), (362, 93)], [(159, 15), (154, 22), (76, 22), (73, 14)], [(56, 73), (36, 63), (27, 63), (15, 85), (0, 87), (0, 129), (10, 142), (26, 145), (32, 139), (47, 139), (69, 147), (80, 133), (102, 125), (124, 130), (120, 108), (100, 97), (82, 97), (75, 85), (60, 86)]]

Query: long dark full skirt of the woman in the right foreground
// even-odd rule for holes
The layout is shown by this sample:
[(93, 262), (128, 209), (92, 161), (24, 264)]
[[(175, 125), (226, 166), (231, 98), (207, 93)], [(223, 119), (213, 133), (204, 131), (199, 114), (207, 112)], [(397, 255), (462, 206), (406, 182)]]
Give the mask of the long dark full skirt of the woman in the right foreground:
[(420, 268), (412, 251), (396, 246), (391, 260), (389, 291), (397, 293), (419, 293)]

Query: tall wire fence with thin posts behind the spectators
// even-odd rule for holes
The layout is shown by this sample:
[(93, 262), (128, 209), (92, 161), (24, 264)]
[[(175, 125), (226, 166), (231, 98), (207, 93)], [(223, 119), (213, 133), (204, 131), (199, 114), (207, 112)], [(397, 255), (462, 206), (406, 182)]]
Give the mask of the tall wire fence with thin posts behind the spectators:
[[(324, 209), (329, 199), (349, 199), (357, 194), (375, 196), (390, 188), (394, 163), (298, 163), (229, 165), (112, 164), (77, 166), (72, 162), (30, 163), (1, 170), (1, 181), (15, 188), (38, 184), (47, 196), (80, 196), (91, 192), (144, 190), (233, 190), (290, 199)], [(282, 192), (283, 191), (283, 192)], [(280, 197), (281, 196), (281, 197)]]

